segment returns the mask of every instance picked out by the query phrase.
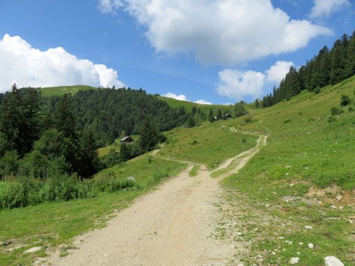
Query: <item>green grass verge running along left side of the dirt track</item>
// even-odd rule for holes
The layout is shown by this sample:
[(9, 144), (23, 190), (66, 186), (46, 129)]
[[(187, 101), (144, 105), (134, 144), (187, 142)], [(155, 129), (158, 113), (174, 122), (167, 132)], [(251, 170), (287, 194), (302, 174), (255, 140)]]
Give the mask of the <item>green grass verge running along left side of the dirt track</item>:
[[(64, 244), (60, 256), (65, 256), (73, 237), (90, 229), (105, 226), (105, 222), (128, 206), (137, 196), (155, 187), (160, 179), (178, 174), (187, 165), (173, 161), (150, 158), (144, 154), (122, 165), (104, 170), (97, 179), (114, 176), (117, 179), (135, 177), (143, 186), (140, 190), (102, 193), (90, 199), (69, 202), (50, 202), (0, 211), (0, 265), (31, 265), (35, 257), (46, 256), (45, 252), (58, 249)], [(1, 183), (0, 183), (1, 185)], [(1, 189), (1, 187), (0, 187)], [(8, 251), (16, 245), (27, 245)], [(24, 255), (31, 247), (41, 246), (36, 254)]]

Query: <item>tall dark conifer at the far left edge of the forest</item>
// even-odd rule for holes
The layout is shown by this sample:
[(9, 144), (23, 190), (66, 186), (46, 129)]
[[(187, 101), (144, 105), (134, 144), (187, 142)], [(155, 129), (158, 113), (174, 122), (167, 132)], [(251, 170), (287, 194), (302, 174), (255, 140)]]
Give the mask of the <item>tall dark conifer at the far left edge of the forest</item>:
[(33, 142), (40, 136), (40, 93), (37, 89), (12, 89), (3, 97), (0, 106), (0, 132), (8, 141), (10, 150), (20, 157), (32, 150)]

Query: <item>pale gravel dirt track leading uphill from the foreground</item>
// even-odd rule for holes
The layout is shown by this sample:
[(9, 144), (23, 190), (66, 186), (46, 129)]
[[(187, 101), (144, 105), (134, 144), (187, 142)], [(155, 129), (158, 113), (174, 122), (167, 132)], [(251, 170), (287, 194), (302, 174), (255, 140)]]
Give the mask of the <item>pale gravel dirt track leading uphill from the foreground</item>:
[[(259, 136), (254, 148), (227, 160), (222, 167), (241, 158), (232, 169), (238, 171), (266, 145), (266, 139)], [(156, 151), (153, 156), (158, 157)], [(180, 175), (137, 199), (107, 227), (79, 236), (78, 249), (64, 258), (53, 254), (46, 265), (227, 265), (238, 247), (213, 237), (220, 215), (214, 203), (222, 192), (218, 182), (232, 172), (211, 178), (201, 166), (196, 177), (189, 177), (192, 167), (189, 164)]]

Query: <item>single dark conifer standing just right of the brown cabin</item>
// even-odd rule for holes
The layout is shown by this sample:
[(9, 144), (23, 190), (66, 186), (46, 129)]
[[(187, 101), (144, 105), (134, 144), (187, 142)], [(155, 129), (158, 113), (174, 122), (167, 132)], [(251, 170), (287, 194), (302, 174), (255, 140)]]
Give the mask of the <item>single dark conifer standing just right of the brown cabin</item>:
[(148, 152), (158, 143), (158, 130), (149, 118), (144, 118), (141, 125), (139, 145), (142, 152)]

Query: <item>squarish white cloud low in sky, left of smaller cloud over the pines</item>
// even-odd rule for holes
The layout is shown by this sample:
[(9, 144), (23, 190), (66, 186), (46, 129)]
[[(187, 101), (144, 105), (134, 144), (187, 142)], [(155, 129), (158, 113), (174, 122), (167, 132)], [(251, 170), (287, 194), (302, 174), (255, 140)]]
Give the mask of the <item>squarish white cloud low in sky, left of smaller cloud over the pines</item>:
[(263, 93), (266, 76), (256, 71), (239, 71), (224, 69), (218, 73), (220, 82), (217, 87), (218, 94), (241, 100), (245, 96), (257, 98)]

